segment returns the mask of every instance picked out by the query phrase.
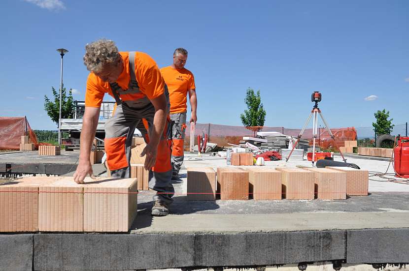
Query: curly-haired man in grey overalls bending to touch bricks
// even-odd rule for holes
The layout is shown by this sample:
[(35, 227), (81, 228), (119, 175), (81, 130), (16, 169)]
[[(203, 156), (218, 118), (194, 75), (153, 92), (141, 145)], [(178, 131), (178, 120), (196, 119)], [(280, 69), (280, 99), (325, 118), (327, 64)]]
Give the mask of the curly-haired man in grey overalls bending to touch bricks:
[[(158, 193), (152, 215), (169, 213), (174, 189), (170, 183), (169, 93), (156, 62), (145, 53), (118, 52), (112, 40), (101, 39), (85, 46), (84, 64), (90, 72), (85, 94), (85, 113), (80, 154), (74, 181), (84, 183), (89, 174), (91, 144), (95, 136), (105, 93), (116, 100), (113, 116), (105, 123), (105, 151), (111, 176), (130, 178), (132, 137), (137, 128), (147, 143), (144, 167), (149, 188)], [(169, 193), (169, 194), (168, 194)]]

